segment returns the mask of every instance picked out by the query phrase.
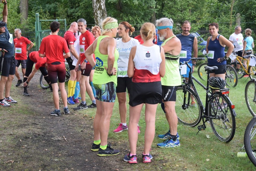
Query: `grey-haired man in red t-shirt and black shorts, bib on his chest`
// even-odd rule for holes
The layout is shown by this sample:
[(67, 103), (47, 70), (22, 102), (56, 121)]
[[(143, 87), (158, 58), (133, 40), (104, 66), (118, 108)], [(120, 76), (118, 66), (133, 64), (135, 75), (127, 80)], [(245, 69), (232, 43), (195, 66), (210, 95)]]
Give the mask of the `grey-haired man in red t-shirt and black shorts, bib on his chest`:
[[(24, 77), (25, 71), (26, 71), (26, 62), (27, 62), (28, 51), (30, 49), (32, 49), (34, 44), (29, 39), (21, 36), (20, 29), (14, 29), (14, 35), (16, 37), (13, 40), (14, 46), (15, 46), (15, 65), (16, 65), (15, 76), (18, 79), (18, 82), (16, 84), (16, 87), (18, 87), (22, 83), (22, 80), (20, 79), (20, 73), (18, 71), (18, 67), (21, 64), (21, 70), (22, 70), (23, 77)], [(27, 44), (29, 44), (28, 48), (27, 48)]]

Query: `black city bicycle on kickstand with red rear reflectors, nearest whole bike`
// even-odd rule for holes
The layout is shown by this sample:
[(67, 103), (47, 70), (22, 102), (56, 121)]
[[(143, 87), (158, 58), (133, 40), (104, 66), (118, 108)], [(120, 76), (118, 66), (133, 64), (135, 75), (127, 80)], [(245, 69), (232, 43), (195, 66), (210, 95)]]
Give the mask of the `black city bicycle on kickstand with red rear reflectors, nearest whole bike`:
[[(204, 58), (191, 58), (190, 60), (203, 59)], [(187, 67), (190, 68), (190, 72), (188, 82), (183, 79), (183, 84), (178, 86), (176, 91), (175, 111), (178, 116), (178, 122), (182, 125), (194, 127), (203, 120), (203, 125), (197, 126), (199, 131), (205, 130), (205, 123), (209, 122), (215, 136), (219, 140), (228, 143), (233, 139), (236, 131), (235, 105), (233, 105), (228, 98), (229, 88), (224, 88), (225, 85), (221, 88), (210, 88), (208, 81), (209, 71), (218, 69), (216, 66), (205, 66), (205, 70), (207, 71), (207, 85), (204, 86), (192, 75), (192, 68), (188, 64), (189, 61), (180, 63), (180, 65), (186, 64)], [(193, 80), (206, 90), (205, 107), (198, 95)], [(191, 105), (191, 97), (195, 99), (194, 105)], [(199, 133), (199, 131), (197, 133)]]

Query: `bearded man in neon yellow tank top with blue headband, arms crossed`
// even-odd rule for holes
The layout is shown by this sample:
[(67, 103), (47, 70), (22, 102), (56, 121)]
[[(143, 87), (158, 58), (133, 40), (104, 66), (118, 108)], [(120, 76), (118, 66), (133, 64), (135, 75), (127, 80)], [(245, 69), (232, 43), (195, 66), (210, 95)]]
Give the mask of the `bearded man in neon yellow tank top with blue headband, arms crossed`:
[(165, 112), (170, 128), (166, 134), (158, 135), (158, 138), (164, 141), (163, 143), (158, 143), (157, 146), (160, 148), (178, 147), (180, 146), (180, 142), (177, 132), (178, 118), (175, 112), (175, 101), (177, 86), (181, 85), (181, 76), (179, 71), (181, 42), (172, 32), (172, 19), (158, 19), (156, 21), (156, 26), (160, 40), (165, 39), (162, 47), (165, 53), (166, 73), (165, 76), (161, 78), (163, 91), (163, 103), (161, 104), (161, 107)]

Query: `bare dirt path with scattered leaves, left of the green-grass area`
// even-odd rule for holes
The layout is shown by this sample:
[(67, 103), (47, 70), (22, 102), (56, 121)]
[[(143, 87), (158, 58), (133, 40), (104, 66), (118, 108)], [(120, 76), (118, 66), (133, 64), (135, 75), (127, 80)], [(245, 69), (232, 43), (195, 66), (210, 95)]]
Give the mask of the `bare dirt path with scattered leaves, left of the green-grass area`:
[(38, 87), (39, 76), (37, 72), (29, 84), (30, 97), (15, 87), (15, 77), (11, 96), (18, 104), (0, 109), (0, 170), (123, 170), (123, 155), (99, 157), (90, 150), (92, 119), (73, 110), (49, 115), (52, 94)]

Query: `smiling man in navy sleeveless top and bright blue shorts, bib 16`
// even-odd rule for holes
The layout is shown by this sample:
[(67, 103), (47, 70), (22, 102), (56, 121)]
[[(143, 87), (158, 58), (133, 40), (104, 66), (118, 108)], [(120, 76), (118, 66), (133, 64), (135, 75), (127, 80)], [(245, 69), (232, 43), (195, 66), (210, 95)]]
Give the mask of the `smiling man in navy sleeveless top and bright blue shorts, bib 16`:
[[(180, 53), (180, 62), (188, 61), (192, 58), (192, 50), (194, 51), (193, 57), (197, 58), (197, 38), (190, 34), (190, 22), (184, 21), (181, 25), (182, 33), (176, 35), (178, 39), (181, 41), (181, 53)], [(192, 64), (193, 63), (193, 64)], [(192, 67), (192, 73), (194, 72), (194, 68), (196, 66), (196, 61), (190, 61), (190, 66)], [(187, 73), (182, 75), (185, 79), (188, 78), (189, 68), (187, 67)]]

